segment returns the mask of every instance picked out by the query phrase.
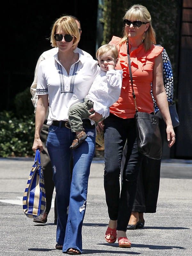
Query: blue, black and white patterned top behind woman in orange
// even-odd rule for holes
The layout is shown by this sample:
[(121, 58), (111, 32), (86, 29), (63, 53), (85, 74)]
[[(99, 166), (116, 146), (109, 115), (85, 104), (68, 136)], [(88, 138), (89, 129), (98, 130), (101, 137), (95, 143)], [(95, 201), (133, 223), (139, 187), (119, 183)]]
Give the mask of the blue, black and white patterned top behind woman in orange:
[[(171, 62), (169, 60), (168, 54), (165, 49), (162, 51), (162, 57), (163, 57), (163, 81), (164, 81), (164, 87), (167, 94), (167, 100), (172, 103), (173, 101), (173, 72), (172, 72), (172, 66)], [(159, 111), (159, 108), (156, 104), (155, 98), (153, 96), (153, 92), (151, 89), (151, 95), (154, 102), (154, 109), (155, 113)]]

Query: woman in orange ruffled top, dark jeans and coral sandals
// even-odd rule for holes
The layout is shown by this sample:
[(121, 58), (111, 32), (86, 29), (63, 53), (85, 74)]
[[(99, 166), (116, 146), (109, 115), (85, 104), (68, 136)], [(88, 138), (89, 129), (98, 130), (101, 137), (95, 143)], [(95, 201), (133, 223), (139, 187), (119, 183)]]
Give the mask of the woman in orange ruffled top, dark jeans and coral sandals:
[[(142, 5), (133, 5), (124, 15), (124, 37), (113, 36), (109, 44), (119, 49), (116, 69), (123, 70), (121, 95), (110, 107), (110, 115), (103, 122), (105, 132), (104, 188), (108, 206), (109, 224), (105, 240), (109, 243), (118, 239), (119, 247), (131, 247), (126, 236), (137, 188), (137, 177), (142, 155), (138, 152), (135, 128), (135, 105), (128, 68), (129, 47), (133, 87), (137, 108), (141, 112), (153, 113), (153, 95), (166, 123), (169, 147), (175, 142), (175, 133), (163, 83), (162, 47), (155, 46), (155, 32), (151, 16)], [(102, 123), (98, 130), (102, 129)], [(120, 191), (122, 152), (127, 140), (127, 155)]]

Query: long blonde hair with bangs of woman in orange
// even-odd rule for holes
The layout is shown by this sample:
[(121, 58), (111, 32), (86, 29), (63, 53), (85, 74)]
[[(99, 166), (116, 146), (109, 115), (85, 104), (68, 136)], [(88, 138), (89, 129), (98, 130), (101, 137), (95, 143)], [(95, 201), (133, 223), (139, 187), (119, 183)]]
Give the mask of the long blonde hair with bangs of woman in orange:
[[(149, 23), (149, 27), (148, 27), (148, 30), (145, 32), (146, 35), (143, 41), (144, 48), (146, 51), (148, 51), (151, 49), (151, 46), (153, 44), (156, 44), (155, 31), (151, 25), (151, 15), (145, 6), (132, 5), (125, 13), (123, 20), (124, 19), (131, 20), (131, 21), (138, 20), (138, 21)], [(126, 27), (124, 27), (122, 42), (127, 41), (128, 39), (125, 28)]]

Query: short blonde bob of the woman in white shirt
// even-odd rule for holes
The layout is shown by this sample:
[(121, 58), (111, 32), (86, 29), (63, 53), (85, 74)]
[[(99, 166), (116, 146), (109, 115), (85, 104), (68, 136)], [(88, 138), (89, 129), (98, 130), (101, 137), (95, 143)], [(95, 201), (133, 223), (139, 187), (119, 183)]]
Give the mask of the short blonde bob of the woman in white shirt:
[(57, 19), (53, 24), (50, 37), (52, 47), (57, 47), (54, 34), (64, 33), (75, 37), (75, 40), (73, 42), (73, 49), (76, 49), (78, 42), (80, 40), (80, 33), (75, 19), (71, 16), (62, 16), (59, 19)]

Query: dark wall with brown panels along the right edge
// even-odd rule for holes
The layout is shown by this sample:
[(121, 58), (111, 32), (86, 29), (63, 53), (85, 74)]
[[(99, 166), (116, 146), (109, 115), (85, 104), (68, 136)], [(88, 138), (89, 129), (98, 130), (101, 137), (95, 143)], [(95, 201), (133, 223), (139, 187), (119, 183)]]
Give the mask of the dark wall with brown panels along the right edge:
[(180, 22), (180, 49), (178, 59), (178, 115), (175, 158), (192, 159), (192, 1), (183, 0)]

